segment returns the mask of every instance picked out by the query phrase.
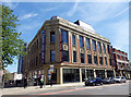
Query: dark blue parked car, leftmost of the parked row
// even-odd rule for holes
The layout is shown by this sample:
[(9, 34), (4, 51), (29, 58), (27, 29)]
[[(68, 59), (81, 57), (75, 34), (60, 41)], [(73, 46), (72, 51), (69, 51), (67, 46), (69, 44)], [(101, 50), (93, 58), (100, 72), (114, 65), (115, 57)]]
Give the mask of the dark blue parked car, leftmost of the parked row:
[(88, 85), (95, 86), (97, 84), (103, 85), (103, 80), (100, 77), (88, 78), (87, 81), (85, 81), (85, 86), (88, 86)]

